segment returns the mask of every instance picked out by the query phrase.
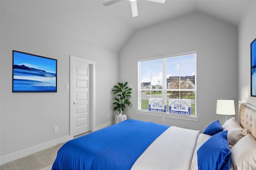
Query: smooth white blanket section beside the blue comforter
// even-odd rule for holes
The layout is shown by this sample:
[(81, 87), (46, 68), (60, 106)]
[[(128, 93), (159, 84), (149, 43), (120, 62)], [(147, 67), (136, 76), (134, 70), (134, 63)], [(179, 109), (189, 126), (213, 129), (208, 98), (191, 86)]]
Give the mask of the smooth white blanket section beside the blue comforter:
[(199, 131), (172, 126), (136, 160), (131, 170), (189, 170)]

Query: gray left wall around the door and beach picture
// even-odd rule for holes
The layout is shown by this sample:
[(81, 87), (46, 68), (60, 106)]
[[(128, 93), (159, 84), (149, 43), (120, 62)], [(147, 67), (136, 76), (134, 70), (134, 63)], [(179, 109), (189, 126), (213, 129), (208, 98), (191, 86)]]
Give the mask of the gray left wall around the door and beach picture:
[[(96, 126), (112, 123), (110, 94), (118, 82), (117, 52), (93, 46), (63, 29), (16, 14), (3, 5), (0, 12), (0, 156), (69, 135), (70, 95), (65, 89), (70, 81), (69, 55), (96, 62)], [(12, 50), (57, 59), (58, 92), (12, 93)], [(58, 133), (53, 133), (54, 126), (58, 126)]]

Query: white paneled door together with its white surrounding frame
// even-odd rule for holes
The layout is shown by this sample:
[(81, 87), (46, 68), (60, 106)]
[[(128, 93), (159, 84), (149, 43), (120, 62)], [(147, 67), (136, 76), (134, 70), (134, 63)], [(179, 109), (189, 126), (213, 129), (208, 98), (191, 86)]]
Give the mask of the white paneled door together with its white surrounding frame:
[(96, 63), (70, 56), (70, 136), (96, 129)]

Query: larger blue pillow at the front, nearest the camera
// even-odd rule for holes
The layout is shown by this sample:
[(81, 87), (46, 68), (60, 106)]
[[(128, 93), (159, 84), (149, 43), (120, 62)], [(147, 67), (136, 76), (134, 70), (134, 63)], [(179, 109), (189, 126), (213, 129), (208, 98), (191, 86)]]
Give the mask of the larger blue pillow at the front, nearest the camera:
[(228, 131), (213, 135), (197, 150), (198, 170), (229, 170)]

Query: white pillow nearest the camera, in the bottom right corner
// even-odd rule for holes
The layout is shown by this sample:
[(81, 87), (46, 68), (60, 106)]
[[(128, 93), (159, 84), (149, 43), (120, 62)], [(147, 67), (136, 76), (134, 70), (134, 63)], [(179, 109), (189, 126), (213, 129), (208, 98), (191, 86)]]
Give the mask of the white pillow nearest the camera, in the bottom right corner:
[(256, 170), (256, 140), (251, 134), (240, 139), (230, 153), (234, 170)]

